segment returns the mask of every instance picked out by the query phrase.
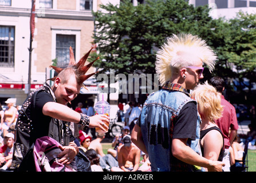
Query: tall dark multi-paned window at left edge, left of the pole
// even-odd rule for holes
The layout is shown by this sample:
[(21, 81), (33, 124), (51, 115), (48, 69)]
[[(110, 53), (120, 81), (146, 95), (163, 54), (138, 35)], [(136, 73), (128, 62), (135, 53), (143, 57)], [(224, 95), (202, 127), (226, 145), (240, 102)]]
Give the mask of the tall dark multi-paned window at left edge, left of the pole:
[(14, 67), (14, 27), (0, 26), (0, 66)]

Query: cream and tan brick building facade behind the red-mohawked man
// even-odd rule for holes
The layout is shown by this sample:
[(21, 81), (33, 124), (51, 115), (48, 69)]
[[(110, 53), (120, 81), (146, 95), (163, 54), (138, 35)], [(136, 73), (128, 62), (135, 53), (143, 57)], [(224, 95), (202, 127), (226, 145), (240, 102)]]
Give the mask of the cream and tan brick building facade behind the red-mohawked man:
[[(113, 0), (112, 0), (113, 1)], [(69, 63), (69, 46), (78, 61), (93, 46), (92, 10), (103, 0), (36, 0), (35, 29), (31, 51), (31, 90), (53, 77), (53, 61), (64, 67)], [(113, 1), (114, 3), (119, 1)], [(31, 0), (0, 0), (0, 102), (17, 98), (21, 105), (27, 97), (29, 78)], [(95, 69), (90, 68), (92, 73)], [(85, 81), (86, 98), (97, 94), (93, 78)], [(81, 98), (81, 97), (80, 97)], [(83, 98), (82, 98), (83, 100)]]

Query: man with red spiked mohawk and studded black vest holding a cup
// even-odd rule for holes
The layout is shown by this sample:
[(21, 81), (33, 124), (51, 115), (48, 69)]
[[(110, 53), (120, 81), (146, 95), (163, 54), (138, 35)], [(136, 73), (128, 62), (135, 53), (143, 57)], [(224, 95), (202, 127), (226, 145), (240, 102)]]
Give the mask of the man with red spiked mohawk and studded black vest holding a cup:
[[(92, 48), (93, 49), (93, 48)], [(90, 51), (76, 63), (72, 47), (70, 61), (66, 68), (52, 67), (58, 75), (52, 80), (53, 86), (47, 83), (31, 92), (22, 105), (15, 126), (14, 156), (11, 169), (14, 171), (35, 171), (33, 156), (29, 149), (38, 138), (48, 136), (60, 142), (62, 152), (58, 162), (71, 164), (78, 154), (77, 145), (73, 142), (78, 137), (78, 128), (99, 127), (103, 132), (108, 130), (109, 119), (104, 114), (88, 117), (77, 113), (67, 105), (80, 93), (83, 82), (93, 74), (86, 74), (90, 66), (99, 59), (85, 65)], [(97, 73), (97, 72), (96, 72)]]

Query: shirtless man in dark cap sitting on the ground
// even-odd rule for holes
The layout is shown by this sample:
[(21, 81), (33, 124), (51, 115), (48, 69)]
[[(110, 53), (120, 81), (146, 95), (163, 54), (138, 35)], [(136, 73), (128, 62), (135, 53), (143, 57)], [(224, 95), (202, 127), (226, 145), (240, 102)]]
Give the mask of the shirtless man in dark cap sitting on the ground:
[(119, 168), (124, 172), (136, 172), (140, 164), (140, 149), (132, 143), (129, 135), (124, 136), (123, 141), (117, 157)]

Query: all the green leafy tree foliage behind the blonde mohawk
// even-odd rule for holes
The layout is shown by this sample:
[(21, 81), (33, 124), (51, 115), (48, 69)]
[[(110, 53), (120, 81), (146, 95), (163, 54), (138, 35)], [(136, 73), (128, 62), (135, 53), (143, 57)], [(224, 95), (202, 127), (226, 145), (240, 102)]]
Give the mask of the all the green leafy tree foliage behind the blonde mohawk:
[(155, 73), (155, 54), (166, 38), (191, 33), (206, 39), (218, 55), (214, 72), (204, 72), (205, 80), (219, 75), (231, 86), (238, 79), (239, 90), (246, 84), (244, 78), (249, 88), (256, 82), (256, 15), (240, 12), (234, 19), (212, 19), (208, 6), (194, 7), (183, 0), (148, 0), (138, 6), (125, 0), (101, 9), (93, 13), (93, 38), (100, 53), (94, 66), (102, 72)]

